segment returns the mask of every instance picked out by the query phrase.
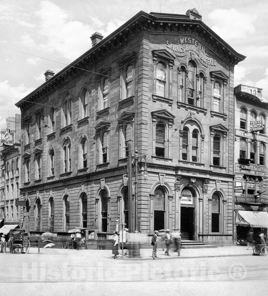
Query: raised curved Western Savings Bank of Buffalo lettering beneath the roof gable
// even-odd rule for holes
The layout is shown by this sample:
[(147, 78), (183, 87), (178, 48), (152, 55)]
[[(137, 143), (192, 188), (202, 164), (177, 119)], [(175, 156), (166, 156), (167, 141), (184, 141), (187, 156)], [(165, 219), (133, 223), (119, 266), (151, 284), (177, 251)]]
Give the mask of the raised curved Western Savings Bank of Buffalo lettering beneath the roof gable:
[(212, 59), (212, 57), (205, 52), (205, 48), (194, 38), (176, 37), (175, 39), (176, 40), (173, 41), (173, 43), (167, 40), (167, 48), (179, 57), (186, 56), (186, 52), (192, 52), (199, 57), (200, 62), (205, 63), (208, 66), (216, 66), (216, 59)]

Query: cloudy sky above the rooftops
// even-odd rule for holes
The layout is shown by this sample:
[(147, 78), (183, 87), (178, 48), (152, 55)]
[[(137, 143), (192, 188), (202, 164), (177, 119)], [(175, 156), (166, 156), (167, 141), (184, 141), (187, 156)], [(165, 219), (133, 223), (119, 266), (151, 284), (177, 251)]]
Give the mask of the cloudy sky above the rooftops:
[(0, 0), (0, 128), (20, 114), (15, 103), (91, 48), (90, 36), (108, 36), (136, 13), (185, 15), (202, 21), (238, 53), (234, 86), (263, 89), (268, 99), (267, 0)]

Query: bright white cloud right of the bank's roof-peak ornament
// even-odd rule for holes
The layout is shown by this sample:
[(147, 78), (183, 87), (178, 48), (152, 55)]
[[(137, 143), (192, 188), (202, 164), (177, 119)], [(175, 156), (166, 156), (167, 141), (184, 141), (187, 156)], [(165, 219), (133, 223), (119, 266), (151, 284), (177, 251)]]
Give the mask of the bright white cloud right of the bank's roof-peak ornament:
[(208, 18), (216, 24), (211, 29), (226, 41), (245, 39), (255, 32), (253, 21), (256, 16), (234, 8), (215, 9), (208, 14)]

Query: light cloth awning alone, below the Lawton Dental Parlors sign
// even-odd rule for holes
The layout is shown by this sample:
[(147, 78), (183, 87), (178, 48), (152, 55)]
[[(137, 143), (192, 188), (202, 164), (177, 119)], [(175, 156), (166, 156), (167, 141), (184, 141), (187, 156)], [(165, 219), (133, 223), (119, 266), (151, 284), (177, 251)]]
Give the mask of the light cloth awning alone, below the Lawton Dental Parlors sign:
[(236, 225), (250, 227), (268, 227), (267, 212), (236, 211)]

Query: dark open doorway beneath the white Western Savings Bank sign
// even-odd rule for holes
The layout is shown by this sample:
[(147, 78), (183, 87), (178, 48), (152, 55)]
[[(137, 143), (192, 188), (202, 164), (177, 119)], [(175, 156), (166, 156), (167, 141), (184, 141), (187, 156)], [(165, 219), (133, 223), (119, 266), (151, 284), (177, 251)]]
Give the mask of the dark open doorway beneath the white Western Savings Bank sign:
[(181, 239), (194, 240), (194, 207), (181, 207)]

